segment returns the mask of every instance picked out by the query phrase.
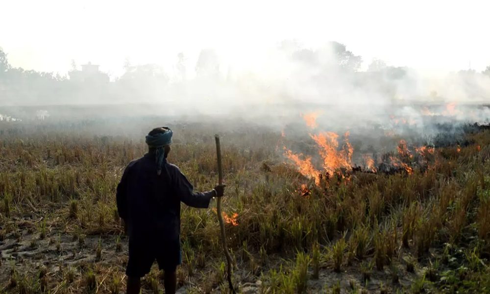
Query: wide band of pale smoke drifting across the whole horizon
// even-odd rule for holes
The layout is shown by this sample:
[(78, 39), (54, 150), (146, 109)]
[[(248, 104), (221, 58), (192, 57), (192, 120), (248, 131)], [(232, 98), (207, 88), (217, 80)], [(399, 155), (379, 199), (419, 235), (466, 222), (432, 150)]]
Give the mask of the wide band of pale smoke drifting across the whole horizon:
[(340, 132), (369, 124), (400, 132), (408, 125), (434, 133), (435, 122), (447, 117), (453, 123), (483, 123), (489, 115), (483, 104), (490, 94), (490, 77), (483, 73), (434, 75), (380, 60), (361, 71), (362, 57), (337, 42), (304, 48), (284, 41), (254, 56), (248, 63), (235, 62), (240, 56), (226, 60), (217, 50), (203, 49), (194, 59), (179, 53), (172, 68), (126, 61), (125, 73), (111, 81), (91, 65), (85, 72), (74, 64), (67, 77), (39, 73), (28, 90), (19, 85), (34, 73), (9, 69), (0, 76), (0, 102), (35, 105), (34, 113), (17, 107), (17, 113), (6, 114), (23, 119), (87, 119), (90, 116), (76, 113), (80, 108), (66, 107), (61, 114), (45, 106), (95, 105), (104, 110), (88, 111), (93, 117), (102, 112), (123, 117), (239, 118), (277, 129), (301, 122), (302, 114), (318, 112), (322, 128)]

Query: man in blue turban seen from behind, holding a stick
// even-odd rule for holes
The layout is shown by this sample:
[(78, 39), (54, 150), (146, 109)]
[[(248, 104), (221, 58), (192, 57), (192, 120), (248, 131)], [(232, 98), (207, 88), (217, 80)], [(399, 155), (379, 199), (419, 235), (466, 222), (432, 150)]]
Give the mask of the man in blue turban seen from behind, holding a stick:
[(153, 262), (164, 270), (165, 293), (175, 293), (175, 270), (181, 263), (180, 201), (207, 208), (213, 197), (223, 196), (225, 185), (194, 193), (179, 168), (167, 162), (172, 130), (158, 127), (147, 137), (148, 153), (126, 167), (117, 188), (119, 216), (127, 227), (129, 260), (126, 267), (127, 294), (140, 292), (140, 279)]

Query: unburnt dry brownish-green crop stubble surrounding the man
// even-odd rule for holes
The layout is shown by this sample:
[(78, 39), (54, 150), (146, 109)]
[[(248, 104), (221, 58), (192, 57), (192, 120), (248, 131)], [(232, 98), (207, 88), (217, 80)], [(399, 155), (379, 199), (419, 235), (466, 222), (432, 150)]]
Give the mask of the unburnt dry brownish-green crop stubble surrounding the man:
[[(216, 182), (213, 141), (202, 130), (176, 130), (180, 135), (170, 160), (199, 190), (210, 189)], [(362, 268), (360, 285), (372, 279), (373, 270), (390, 285), (403, 285), (405, 272), (413, 271), (414, 289), (421, 291), (429, 287), (434, 269), (425, 273), (427, 278), (416, 269), (428, 267), (429, 256), (443, 256), (444, 244), (467, 253), (447, 253), (447, 260), (472, 265), (475, 274), (484, 272), (476, 264), (489, 258), (488, 247), (471, 250), (475, 240), (488, 242), (490, 237), (489, 133), (468, 135), (474, 143), (460, 151), (436, 148), (424, 159), (427, 167), (413, 174), (334, 175), (323, 177), (320, 185), (283, 163), (276, 151), (283, 140), (279, 133), (264, 131), (259, 142), (254, 133), (228, 136), (223, 142), (228, 185), (223, 204), (228, 215), (238, 214), (238, 225), (227, 224), (226, 229), (239, 283), (261, 279), (263, 293), (307, 292), (310, 276), (321, 281), (324, 272), (342, 275)], [(199, 144), (185, 138), (200, 138)], [(115, 214), (115, 188), (123, 167), (145, 152), (145, 144), (63, 131), (26, 131), (0, 140), (5, 167), (0, 171), (0, 242), (19, 243), (22, 254), (17, 254), (24, 259), (22, 265), (12, 264), (13, 250), (5, 250), (0, 289), (120, 292), (127, 247)], [(215, 213), (183, 208), (181, 230), (181, 283), (197, 293), (221, 291), (224, 272)], [(40, 270), (35, 253), (24, 253), (22, 245), (30, 245), (33, 235), (35, 250), (46, 250), (43, 254), (52, 257), (48, 266), (61, 270), (35, 273)], [(61, 267), (52, 261), (60, 256)], [(402, 269), (400, 261), (407, 256), (416, 256), (419, 265), (411, 259)], [(157, 275), (149, 277), (145, 291), (156, 292), (160, 282)], [(327, 288), (337, 291), (332, 283)]]

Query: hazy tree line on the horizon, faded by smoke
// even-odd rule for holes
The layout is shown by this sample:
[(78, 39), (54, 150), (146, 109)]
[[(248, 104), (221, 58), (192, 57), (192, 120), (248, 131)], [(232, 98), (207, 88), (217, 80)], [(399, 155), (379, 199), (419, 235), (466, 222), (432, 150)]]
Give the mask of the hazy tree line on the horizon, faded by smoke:
[[(338, 87), (339, 79), (348, 83), (349, 87), (369, 91), (375, 88), (375, 91), (388, 96), (396, 94), (396, 81), (403, 80), (408, 85), (417, 82), (411, 76), (410, 68), (388, 66), (377, 59), (370, 63), (366, 71), (360, 71), (362, 57), (337, 42), (330, 42), (319, 49), (306, 49), (294, 41), (283, 41), (279, 50), (288, 62), (295, 64), (291, 77), (306, 80), (308, 86), (314, 84), (320, 93), (322, 89)], [(230, 78), (230, 73), (223, 74), (218, 54), (212, 49), (200, 52), (192, 78), (188, 78), (183, 53), (177, 55), (172, 78), (158, 65), (131, 65), (126, 62), (123, 75), (112, 81), (106, 73), (84, 73), (74, 63), (67, 75), (60, 75), (13, 67), (7, 57), (7, 53), (0, 48), (0, 105), (155, 102), (179, 96), (183, 89), (189, 87), (237, 88), (241, 82), (240, 76)], [(93, 78), (80, 78), (86, 75), (93, 75)], [(474, 81), (475, 77), (490, 77), (490, 66), (482, 73), (466, 70), (458, 75), (465, 87), (479, 87), (479, 83)], [(306, 84), (299, 83), (297, 86)], [(476, 92), (477, 96), (486, 95), (481, 89), (471, 91)]]

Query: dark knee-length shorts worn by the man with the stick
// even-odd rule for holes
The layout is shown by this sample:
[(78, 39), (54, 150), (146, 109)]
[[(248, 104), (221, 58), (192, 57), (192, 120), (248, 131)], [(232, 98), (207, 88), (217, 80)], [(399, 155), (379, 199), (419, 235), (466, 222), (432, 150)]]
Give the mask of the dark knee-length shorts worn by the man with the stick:
[[(153, 243), (153, 244), (152, 244)], [(126, 275), (129, 277), (143, 277), (150, 272), (155, 260), (158, 268), (173, 272), (182, 263), (179, 242), (143, 242), (129, 238), (129, 259)]]

